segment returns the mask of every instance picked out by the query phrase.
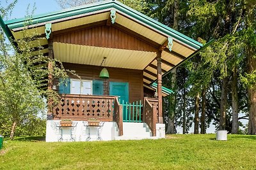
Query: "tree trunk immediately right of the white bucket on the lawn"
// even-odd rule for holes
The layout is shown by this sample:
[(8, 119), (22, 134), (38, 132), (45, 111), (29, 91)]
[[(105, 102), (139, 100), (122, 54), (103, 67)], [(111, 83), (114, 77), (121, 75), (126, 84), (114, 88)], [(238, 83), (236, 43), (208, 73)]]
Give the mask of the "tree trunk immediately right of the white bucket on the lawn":
[(232, 134), (238, 134), (238, 96), (237, 96), (237, 69), (234, 67), (232, 75)]

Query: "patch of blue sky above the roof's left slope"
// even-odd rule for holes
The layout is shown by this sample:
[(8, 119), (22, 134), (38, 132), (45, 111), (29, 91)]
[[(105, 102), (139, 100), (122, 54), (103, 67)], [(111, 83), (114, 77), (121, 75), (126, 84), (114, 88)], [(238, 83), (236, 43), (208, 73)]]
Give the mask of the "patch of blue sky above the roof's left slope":
[[(11, 0), (9, 0), (8, 2), (11, 2)], [(4, 4), (5, 1), (2, 2), (2, 5)], [(9, 19), (25, 17), (26, 10), (29, 4), (29, 11), (33, 9), (33, 5), (35, 4), (35, 15), (61, 10), (60, 6), (58, 5), (58, 3), (56, 3), (55, 0), (18, 0), (18, 3), (16, 4), (15, 8), (12, 11), (12, 16)]]

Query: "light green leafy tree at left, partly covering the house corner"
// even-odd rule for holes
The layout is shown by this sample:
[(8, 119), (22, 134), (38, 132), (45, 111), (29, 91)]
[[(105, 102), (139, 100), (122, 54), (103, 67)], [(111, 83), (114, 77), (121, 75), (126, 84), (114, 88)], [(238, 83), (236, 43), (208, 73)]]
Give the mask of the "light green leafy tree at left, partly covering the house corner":
[[(17, 1), (13, 1), (7, 8), (2, 7), (1, 16), (8, 15), (15, 3)], [(29, 25), (31, 16), (28, 15), (27, 18), (25, 26)], [(51, 73), (54, 78), (65, 78), (67, 72), (61, 62), (45, 57), (40, 50), (33, 55), (33, 44), (40, 43), (42, 38), (36, 32), (30, 34), (29, 38), (11, 40), (12, 46), (6, 40), (3, 29), (0, 31), (0, 126), (1, 132), (6, 133), (7, 129), (10, 139), (13, 139), (17, 128), (27, 127), (31, 130), (31, 127), (35, 127), (35, 122), (42, 125), (44, 120), (38, 118), (38, 115), (44, 115), (45, 99), (51, 99), (53, 104), (59, 101), (59, 96), (54, 90), (44, 89), (48, 84), (47, 64), (52, 63)], [(27, 29), (24, 29), (24, 35), (26, 31)], [(33, 131), (30, 134), (33, 134)]]

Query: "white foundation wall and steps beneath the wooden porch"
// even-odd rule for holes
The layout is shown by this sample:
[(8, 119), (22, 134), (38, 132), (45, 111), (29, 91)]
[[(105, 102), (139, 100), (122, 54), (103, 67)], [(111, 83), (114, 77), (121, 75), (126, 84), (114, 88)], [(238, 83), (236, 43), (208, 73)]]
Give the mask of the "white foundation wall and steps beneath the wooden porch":
[[(46, 142), (57, 141), (111, 141), (127, 139), (160, 139), (165, 138), (165, 125), (156, 124), (156, 136), (145, 123), (125, 123), (124, 135), (118, 136), (119, 130), (116, 122), (104, 122), (97, 134), (99, 127), (87, 126), (83, 121), (73, 121), (74, 127), (58, 127), (60, 120), (47, 120), (46, 123)], [(62, 130), (62, 135), (61, 135)], [(90, 138), (88, 131), (90, 130)], [(100, 139), (99, 139), (100, 136)]]

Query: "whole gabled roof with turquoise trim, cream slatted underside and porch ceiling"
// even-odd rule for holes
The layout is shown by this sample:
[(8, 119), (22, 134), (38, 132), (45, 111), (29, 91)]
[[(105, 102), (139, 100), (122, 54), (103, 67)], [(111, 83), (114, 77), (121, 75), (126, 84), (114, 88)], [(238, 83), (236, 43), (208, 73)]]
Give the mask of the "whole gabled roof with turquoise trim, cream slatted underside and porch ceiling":
[[(141, 69), (143, 70), (144, 85), (148, 87), (157, 79), (156, 51), (159, 50), (159, 48), (165, 48), (162, 52), (161, 61), (164, 76), (168, 74), (173, 67), (179, 66), (184, 60), (193, 57), (193, 55), (212, 43), (211, 41), (203, 46), (194, 39), (129, 8), (118, 1), (103, 1), (100, 3), (77, 6), (67, 10), (35, 15), (29, 20), (28, 27), (30, 29), (26, 32), (23, 32), (24, 23), (27, 20), (26, 18), (8, 20), (5, 22), (0, 18), (0, 24), (8, 38), (11, 39), (20, 39), (23, 38), (23, 36), (31, 36), (33, 31), (44, 35), (45, 24), (47, 23), (51, 23), (52, 25), (52, 34), (60, 35), (63, 34), (63, 31), (67, 32), (74, 28), (77, 28), (78, 30), (81, 28), (88, 29), (88, 27), (92, 27), (92, 25), (94, 25), (94, 27), (102, 24), (108, 25), (111, 12), (113, 11), (115, 13), (115, 20), (113, 24), (110, 24), (111, 27), (124, 31), (124, 34), (131, 34), (134, 38), (147, 43), (155, 50), (134, 50), (131, 48), (120, 49), (116, 48), (116, 46), (109, 48), (91, 44), (72, 44), (68, 43), (68, 41), (54, 41), (53, 46), (56, 50), (56, 52), (54, 52), (54, 57), (63, 60), (64, 62), (100, 66), (102, 58), (104, 57), (103, 55), (109, 55), (107, 56), (108, 60), (106, 66)], [(170, 42), (170, 39), (172, 42)], [(172, 49), (168, 46), (168, 43), (173, 44)], [(48, 52), (47, 39), (41, 39), (39, 43), (35, 43), (35, 46), (36, 44), (45, 47), (44, 50), (40, 50), (42, 53)], [(67, 49), (76, 52), (76, 56), (80, 57), (80, 59), (84, 56), (91, 58), (88, 62), (84, 62), (86, 60), (79, 61), (76, 56), (71, 56), (74, 55), (74, 53), (70, 54), (69, 52), (65, 52)], [(85, 51), (88, 53), (85, 53)], [(122, 56), (122, 59), (120, 59), (120, 56)], [(119, 62), (116, 62), (116, 60)]]

